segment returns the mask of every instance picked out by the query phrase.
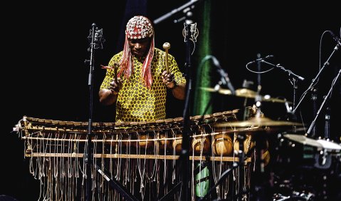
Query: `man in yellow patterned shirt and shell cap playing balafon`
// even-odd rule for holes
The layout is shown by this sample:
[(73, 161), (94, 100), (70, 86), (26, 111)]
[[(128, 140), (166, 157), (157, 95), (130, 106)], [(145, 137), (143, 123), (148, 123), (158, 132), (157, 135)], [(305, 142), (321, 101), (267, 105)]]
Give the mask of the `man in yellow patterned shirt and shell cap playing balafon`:
[(117, 122), (166, 118), (167, 90), (177, 99), (185, 98), (186, 79), (174, 57), (154, 47), (154, 28), (145, 16), (127, 22), (123, 51), (103, 67), (107, 73), (100, 86), (100, 103), (116, 103)]

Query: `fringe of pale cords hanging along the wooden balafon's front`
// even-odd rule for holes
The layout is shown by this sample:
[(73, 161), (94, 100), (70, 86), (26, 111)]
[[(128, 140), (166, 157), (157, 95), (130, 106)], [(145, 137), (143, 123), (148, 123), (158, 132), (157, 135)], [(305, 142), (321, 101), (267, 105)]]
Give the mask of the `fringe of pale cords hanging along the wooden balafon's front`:
[[(200, 130), (200, 133), (205, 133), (205, 130)], [(36, 138), (26, 140), (25, 150), (26, 152), (30, 150), (29, 154), (31, 155), (36, 153), (36, 157), (29, 158), (29, 170), (33, 177), (40, 182), (38, 200), (86, 200), (88, 178), (85, 158), (88, 153), (88, 140), (84, 139), (84, 134), (39, 131), (30, 135)], [(138, 140), (151, 139), (154, 136), (159, 138), (159, 135), (156, 132), (153, 135), (136, 132)], [(167, 142), (168, 138), (177, 138), (177, 132), (171, 129), (162, 135), (162, 138), (166, 139), (163, 143), (147, 143), (143, 140), (136, 142), (131, 140), (131, 135), (127, 135), (127, 133), (117, 135), (103, 133), (103, 136), (100, 137), (96, 135), (92, 139), (94, 142), (93, 155), (100, 154), (101, 157), (93, 158), (93, 164), (98, 165), (103, 171), (109, 170), (110, 179), (120, 182), (139, 200), (158, 200), (160, 195), (166, 195), (174, 185), (181, 182), (182, 173), (182, 170), (176, 166), (175, 160), (175, 155), (179, 155), (179, 153), (175, 148), (177, 145), (174, 143), (179, 140)], [(199, 155), (206, 155), (204, 153), (205, 138), (198, 138), (197, 143), (199, 143), (196, 144), (199, 145)], [(195, 147), (192, 145), (192, 150), (194, 149)], [(79, 157), (80, 154), (83, 154), (83, 158)], [(155, 157), (152, 159), (147, 157), (106, 158), (105, 154), (154, 155)], [(164, 159), (160, 159), (160, 155), (164, 156)], [(166, 155), (173, 155), (174, 159), (166, 160)], [(192, 156), (194, 157), (194, 151), (192, 151)], [(207, 189), (207, 186), (205, 187), (195, 179), (196, 175), (193, 170), (197, 163), (202, 164), (203, 161), (192, 160), (192, 180), (190, 181), (192, 200), (196, 200), (196, 188), (199, 188), (201, 195), (204, 189)], [(219, 180), (221, 174), (231, 168), (233, 164), (223, 160), (211, 160), (209, 163), (211, 163), (211, 176), (214, 184)], [(112, 189), (103, 175), (96, 171), (94, 165), (91, 168), (92, 200), (125, 200), (117, 190)], [(236, 195), (239, 185), (243, 185), (244, 189), (250, 187), (249, 166), (244, 167), (244, 182), (242, 184), (238, 182), (239, 174), (236, 169), (231, 176), (216, 187), (218, 199), (226, 199), (231, 194), (231, 190), (234, 190)], [(201, 165), (199, 165), (199, 174), (203, 174)], [(201, 178), (205, 177), (205, 175), (200, 176)], [(164, 183), (166, 181), (168, 183)], [(206, 185), (208, 184), (209, 182), (206, 182)], [(181, 192), (175, 193), (172, 200), (181, 200)]]

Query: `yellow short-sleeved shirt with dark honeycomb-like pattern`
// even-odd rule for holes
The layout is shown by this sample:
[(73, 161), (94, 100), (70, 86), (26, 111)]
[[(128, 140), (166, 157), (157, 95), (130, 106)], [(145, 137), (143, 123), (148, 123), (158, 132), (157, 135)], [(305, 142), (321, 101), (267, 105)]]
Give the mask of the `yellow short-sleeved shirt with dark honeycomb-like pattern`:
[[(141, 78), (142, 61), (135, 57), (132, 75), (130, 78), (120, 76), (123, 80), (122, 88), (117, 96), (116, 102), (116, 121), (147, 121), (159, 120), (166, 118), (166, 96), (167, 87), (162, 83), (162, 72), (166, 70), (164, 65), (165, 52), (155, 48), (154, 57), (151, 63), (152, 69), (152, 87), (149, 89), (145, 86)], [(114, 63), (119, 63), (122, 58), (122, 51), (115, 54), (110, 61), (110, 67), (114, 68)], [(186, 83), (182, 76), (177, 62), (174, 57), (168, 54), (169, 72), (174, 74), (174, 79), (179, 83)], [(119, 72), (119, 70), (117, 70)], [(114, 71), (107, 69), (107, 73), (100, 89), (110, 86), (110, 82), (114, 76)]]

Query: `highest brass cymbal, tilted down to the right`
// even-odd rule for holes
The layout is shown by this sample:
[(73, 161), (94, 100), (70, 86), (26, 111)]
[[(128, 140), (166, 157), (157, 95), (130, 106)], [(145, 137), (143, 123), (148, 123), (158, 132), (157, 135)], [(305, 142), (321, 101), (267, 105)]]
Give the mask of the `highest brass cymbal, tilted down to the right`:
[[(209, 91), (209, 92), (218, 92), (224, 95), (229, 95), (233, 96), (231, 93), (231, 90), (226, 89), (226, 88), (209, 88), (209, 87), (201, 87), (202, 90), (204, 91)], [(234, 96), (238, 97), (243, 97), (243, 98), (256, 98), (257, 92), (252, 91), (248, 88), (238, 88), (236, 89), (236, 94)], [(290, 101), (287, 101), (285, 99), (280, 99), (280, 98), (271, 98), (271, 96), (261, 96), (262, 101), (266, 102), (273, 102), (273, 103), (291, 103)]]

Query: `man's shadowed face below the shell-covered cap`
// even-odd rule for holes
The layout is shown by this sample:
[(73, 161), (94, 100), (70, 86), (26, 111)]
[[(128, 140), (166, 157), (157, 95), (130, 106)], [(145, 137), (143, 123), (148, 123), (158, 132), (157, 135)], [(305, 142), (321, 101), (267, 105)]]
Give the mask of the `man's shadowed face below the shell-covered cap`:
[(128, 38), (128, 43), (132, 55), (141, 58), (142, 56), (147, 56), (149, 51), (149, 46), (152, 38), (142, 38), (142, 39), (131, 39)]

